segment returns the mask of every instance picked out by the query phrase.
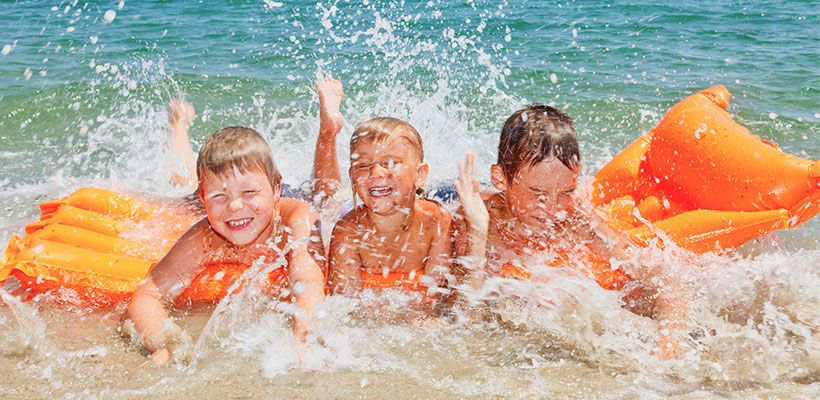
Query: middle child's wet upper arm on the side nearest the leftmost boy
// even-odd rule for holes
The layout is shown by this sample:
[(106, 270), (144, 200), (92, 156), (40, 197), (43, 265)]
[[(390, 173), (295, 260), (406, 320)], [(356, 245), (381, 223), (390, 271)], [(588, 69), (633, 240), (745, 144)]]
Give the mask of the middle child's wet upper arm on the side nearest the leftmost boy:
[(359, 256), (353, 210), (333, 227), (328, 254), (328, 285), (331, 293), (352, 292), (362, 287), (362, 259)]

